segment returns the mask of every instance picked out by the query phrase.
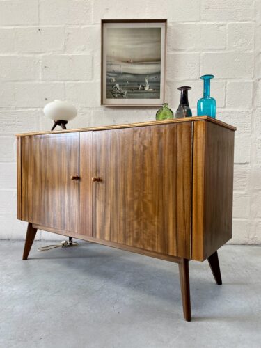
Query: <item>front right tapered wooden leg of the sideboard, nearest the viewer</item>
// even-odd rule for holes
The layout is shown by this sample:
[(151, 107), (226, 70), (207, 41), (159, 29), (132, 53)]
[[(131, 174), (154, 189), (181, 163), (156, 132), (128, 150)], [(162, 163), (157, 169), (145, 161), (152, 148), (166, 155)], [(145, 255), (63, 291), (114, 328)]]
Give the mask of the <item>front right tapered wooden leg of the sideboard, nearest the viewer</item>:
[(184, 318), (187, 322), (191, 321), (191, 305), (189, 290), (189, 260), (182, 258), (179, 262), (180, 289), (183, 304)]

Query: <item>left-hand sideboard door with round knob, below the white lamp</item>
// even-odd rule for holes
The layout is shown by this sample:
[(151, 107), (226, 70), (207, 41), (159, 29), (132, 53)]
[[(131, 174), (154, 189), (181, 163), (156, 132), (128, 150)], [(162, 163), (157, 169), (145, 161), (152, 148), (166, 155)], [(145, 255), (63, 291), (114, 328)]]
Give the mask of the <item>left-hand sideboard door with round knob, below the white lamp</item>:
[(79, 230), (79, 133), (25, 136), (21, 143), (22, 219)]

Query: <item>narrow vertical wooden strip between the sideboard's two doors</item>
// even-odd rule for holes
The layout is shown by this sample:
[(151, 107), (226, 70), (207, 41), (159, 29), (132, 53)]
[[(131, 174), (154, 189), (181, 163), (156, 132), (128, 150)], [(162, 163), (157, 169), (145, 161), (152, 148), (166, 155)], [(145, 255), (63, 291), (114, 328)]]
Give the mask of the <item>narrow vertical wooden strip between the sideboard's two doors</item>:
[(93, 235), (93, 132), (80, 134), (80, 220), (79, 233)]

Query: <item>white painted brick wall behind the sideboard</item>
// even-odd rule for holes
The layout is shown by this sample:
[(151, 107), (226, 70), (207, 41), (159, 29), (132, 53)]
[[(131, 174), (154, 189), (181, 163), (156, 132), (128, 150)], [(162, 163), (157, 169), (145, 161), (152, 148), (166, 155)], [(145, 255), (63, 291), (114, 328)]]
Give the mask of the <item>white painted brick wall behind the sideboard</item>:
[(260, 0), (0, 0), (0, 238), (24, 237), (14, 134), (50, 129), (42, 116), (47, 102), (77, 106), (72, 128), (155, 118), (153, 108), (100, 106), (102, 18), (168, 19), (166, 99), (173, 110), (177, 87), (187, 84), (195, 114), (198, 77), (216, 76), (217, 118), (237, 127), (232, 242), (261, 243)]

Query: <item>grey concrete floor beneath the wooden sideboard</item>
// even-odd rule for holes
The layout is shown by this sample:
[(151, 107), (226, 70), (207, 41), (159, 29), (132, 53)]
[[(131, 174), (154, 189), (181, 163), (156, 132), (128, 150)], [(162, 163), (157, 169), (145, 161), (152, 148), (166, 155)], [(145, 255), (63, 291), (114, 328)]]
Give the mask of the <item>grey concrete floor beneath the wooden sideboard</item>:
[(190, 262), (192, 322), (177, 264), (97, 244), (39, 252), (1, 241), (0, 347), (261, 347), (261, 248), (223, 246), (223, 285)]

